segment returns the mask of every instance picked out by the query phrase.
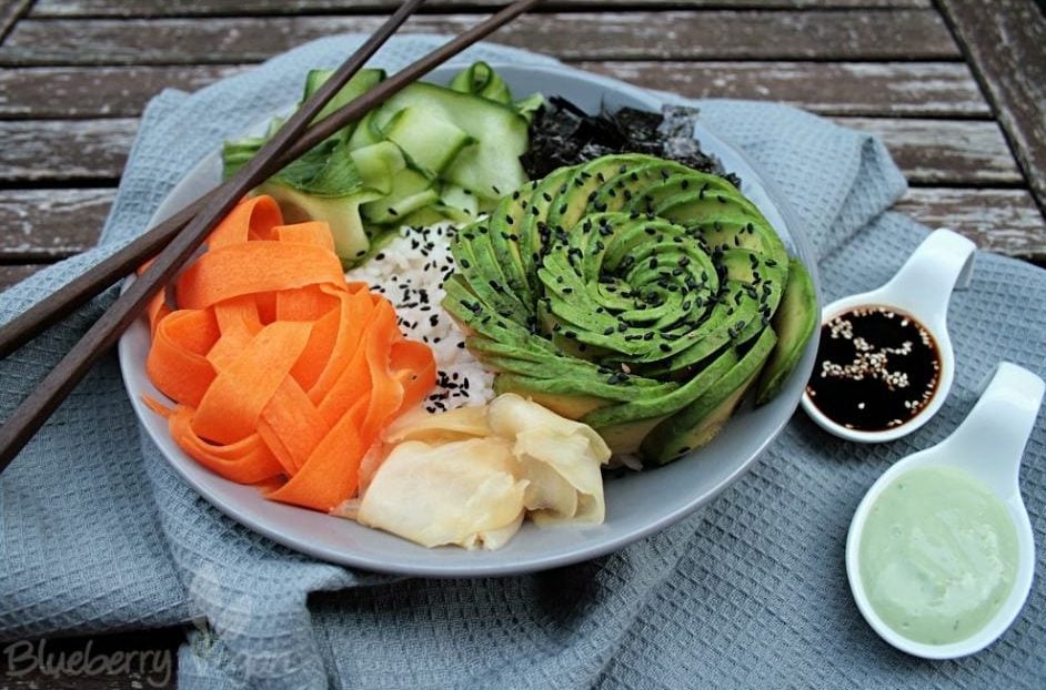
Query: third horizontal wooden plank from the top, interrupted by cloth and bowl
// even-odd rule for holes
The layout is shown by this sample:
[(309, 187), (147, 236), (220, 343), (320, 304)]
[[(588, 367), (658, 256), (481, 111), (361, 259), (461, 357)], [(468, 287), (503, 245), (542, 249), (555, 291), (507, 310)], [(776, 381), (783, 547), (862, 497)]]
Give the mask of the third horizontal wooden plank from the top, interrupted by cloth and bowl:
[[(133, 118), (165, 87), (193, 90), (249, 67), (0, 69), (0, 119)], [(612, 61), (577, 67), (693, 98), (782, 101), (822, 114), (990, 115), (969, 71), (954, 62)]]

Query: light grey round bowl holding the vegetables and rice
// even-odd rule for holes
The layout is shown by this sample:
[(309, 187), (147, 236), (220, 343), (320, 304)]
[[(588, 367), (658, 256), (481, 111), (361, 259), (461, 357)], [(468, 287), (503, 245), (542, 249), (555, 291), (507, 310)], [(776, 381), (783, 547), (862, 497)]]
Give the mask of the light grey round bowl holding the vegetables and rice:
[[(641, 89), (574, 69), (492, 67), (513, 93), (520, 95), (534, 91), (560, 94), (590, 112), (601, 105), (611, 110), (661, 108), (657, 98)], [(428, 80), (445, 83), (457, 69), (460, 67), (441, 68)], [(289, 93), (288, 100), (296, 95)], [(818, 285), (809, 244), (798, 233), (798, 224), (789, 219), (787, 207), (766, 179), (721, 136), (701, 125), (696, 136), (703, 150), (717, 155), (727, 171), (741, 176), (744, 193), (760, 206), (789, 250), (803, 260), (815, 286)], [(215, 185), (220, 171), (215, 152), (171, 192), (153, 222), (172, 215)], [(668, 466), (609, 479), (603, 525), (541, 529), (525, 524), (507, 546), (496, 551), (454, 547), (426, 549), (349, 520), (266, 500), (252, 487), (212, 474), (173, 443), (165, 420), (142, 403), (144, 394), (163, 399), (144, 373), (149, 333), (143, 319), (123, 335), (119, 353), (128, 393), (147, 433), (185, 481), (233, 519), (274, 541), (324, 560), (386, 572), (462, 577), (525, 572), (594, 558), (663, 529), (707, 504), (748, 469), (787, 423), (809, 376), (816, 346), (815, 336), (780, 396), (757, 409), (751, 404), (738, 409), (734, 419), (707, 446)]]

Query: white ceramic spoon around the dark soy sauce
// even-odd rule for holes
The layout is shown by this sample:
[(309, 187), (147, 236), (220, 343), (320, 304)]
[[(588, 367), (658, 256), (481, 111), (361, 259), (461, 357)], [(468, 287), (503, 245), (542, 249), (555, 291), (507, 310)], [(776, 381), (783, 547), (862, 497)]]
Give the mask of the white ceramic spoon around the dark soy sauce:
[[(951, 230), (929, 234), (912, 253), (897, 274), (877, 290), (836, 300), (822, 311), (821, 323), (861, 306), (879, 305), (906, 312), (923, 324), (937, 342), (941, 372), (937, 388), (923, 409), (904, 424), (883, 430), (852, 429), (817, 408), (809, 394), (803, 395), (803, 409), (825, 430), (859, 443), (894, 440), (911, 434), (933, 417), (952, 388), (955, 354), (948, 337), (947, 316), (952, 291), (969, 284), (976, 245)], [(817, 375), (817, 372), (814, 372)]]

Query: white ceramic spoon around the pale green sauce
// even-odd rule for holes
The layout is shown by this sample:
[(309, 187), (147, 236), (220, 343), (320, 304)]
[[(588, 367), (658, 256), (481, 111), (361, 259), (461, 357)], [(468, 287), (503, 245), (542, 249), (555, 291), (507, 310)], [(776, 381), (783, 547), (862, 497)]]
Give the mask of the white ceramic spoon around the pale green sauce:
[[(857, 506), (846, 538), (846, 576), (865, 620), (897, 649), (927, 659), (972, 655), (998, 638), (1024, 606), (1035, 570), (1035, 542), (1017, 478), (1025, 444), (1038, 417), (1044, 389), (1046, 385), (1043, 379), (1032, 372), (1006, 362), (999, 364), (963, 424), (936, 446), (894, 464), (872, 485)], [(946, 645), (917, 642), (887, 626), (872, 607), (861, 580), (861, 537), (872, 505), (895, 478), (928, 466), (956, 467), (974, 475), (998, 496), (1017, 530), (1017, 571), (1002, 608), (973, 637)]]

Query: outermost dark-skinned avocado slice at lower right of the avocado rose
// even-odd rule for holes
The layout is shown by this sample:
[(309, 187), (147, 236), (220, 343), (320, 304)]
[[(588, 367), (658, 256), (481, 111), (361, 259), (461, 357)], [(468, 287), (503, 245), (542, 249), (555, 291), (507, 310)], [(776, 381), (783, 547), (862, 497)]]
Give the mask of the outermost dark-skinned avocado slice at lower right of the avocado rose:
[(758, 377), (776, 342), (774, 329), (764, 328), (744, 356), (704, 395), (655, 426), (640, 446), (644, 460), (664, 465), (712, 440)]

